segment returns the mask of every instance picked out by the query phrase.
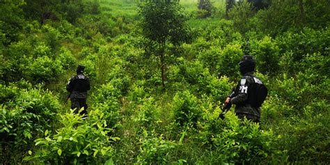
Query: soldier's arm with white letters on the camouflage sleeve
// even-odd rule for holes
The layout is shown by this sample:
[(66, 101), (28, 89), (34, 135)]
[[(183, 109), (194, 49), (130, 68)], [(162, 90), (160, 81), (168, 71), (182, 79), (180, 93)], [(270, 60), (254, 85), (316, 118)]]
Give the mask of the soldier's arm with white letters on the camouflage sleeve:
[(230, 99), (230, 102), (233, 104), (243, 104), (248, 100), (248, 84), (245, 78), (242, 78), (239, 82), (239, 86), (237, 86), (237, 95)]

